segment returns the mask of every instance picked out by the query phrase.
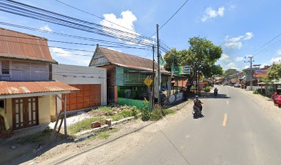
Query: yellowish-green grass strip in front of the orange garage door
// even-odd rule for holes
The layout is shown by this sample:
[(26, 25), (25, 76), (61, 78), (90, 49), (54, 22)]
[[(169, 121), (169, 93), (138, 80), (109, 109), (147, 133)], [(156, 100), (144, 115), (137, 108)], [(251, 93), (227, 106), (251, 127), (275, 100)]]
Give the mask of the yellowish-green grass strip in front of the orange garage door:
[(92, 129), (91, 124), (92, 122), (100, 121), (101, 124), (105, 124), (105, 117), (98, 116), (94, 118), (87, 118), (84, 120), (81, 120), (80, 122), (76, 122), (70, 126), (68, 126), (68, 131), (70, 134), (79, 133), (81, 131), (85, 131), (88, 129)]

